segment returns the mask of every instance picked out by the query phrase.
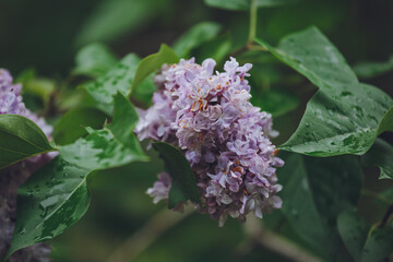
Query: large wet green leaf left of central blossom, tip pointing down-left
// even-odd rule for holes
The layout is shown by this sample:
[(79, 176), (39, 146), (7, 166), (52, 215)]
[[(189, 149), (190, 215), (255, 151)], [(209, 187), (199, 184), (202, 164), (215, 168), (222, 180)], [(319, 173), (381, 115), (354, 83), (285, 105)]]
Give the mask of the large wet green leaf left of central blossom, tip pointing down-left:
[(146, 160), (132, 133), (138, 114), (129, 100), (115, 96), (115, 116), (102, 130), (60, 146), (60, 156), (32, 176), (19, 190), (17, 222), (9, 254), (51, 239), (78, 222), (91, 196), (87, 179), (96, 170)]

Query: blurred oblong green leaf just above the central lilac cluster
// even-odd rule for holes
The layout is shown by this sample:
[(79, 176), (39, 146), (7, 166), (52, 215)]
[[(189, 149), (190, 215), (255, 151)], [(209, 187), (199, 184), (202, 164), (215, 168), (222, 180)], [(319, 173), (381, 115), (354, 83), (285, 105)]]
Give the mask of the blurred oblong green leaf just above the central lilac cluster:
[(174, 51), (181, 58), (202, 43), (215, 37), (219, 31), (221, 25), (214, 22), (202, 22), (192, 26), (174, 44)]

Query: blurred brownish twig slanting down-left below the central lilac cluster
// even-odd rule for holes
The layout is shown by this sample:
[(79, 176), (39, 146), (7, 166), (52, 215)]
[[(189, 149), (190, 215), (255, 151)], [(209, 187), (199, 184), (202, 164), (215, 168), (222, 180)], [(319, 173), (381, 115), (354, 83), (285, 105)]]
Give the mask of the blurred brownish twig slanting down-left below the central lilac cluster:
[(132, 261), (169, 228), (192, 214), (194, 209), (186, 206), (183, 213), (163, 210), (154, 215), (139, 231), (126, 240), (109, 257), (108, 262)]

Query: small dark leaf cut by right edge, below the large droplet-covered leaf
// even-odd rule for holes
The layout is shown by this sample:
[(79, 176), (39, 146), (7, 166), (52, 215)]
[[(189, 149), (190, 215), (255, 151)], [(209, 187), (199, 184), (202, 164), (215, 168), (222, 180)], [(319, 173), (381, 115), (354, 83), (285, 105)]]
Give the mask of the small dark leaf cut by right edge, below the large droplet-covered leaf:
[(388, 142), (377, 139), (364, 156), (361, 162), (365, 166), (377, 166), (380, 168), (380, 179), (393, 179), (393, 146)]

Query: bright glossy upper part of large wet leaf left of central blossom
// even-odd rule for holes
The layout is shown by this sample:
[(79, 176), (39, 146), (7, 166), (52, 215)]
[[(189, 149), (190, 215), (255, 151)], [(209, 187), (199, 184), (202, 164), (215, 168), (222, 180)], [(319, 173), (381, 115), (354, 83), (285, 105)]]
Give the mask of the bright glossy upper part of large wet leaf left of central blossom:
[(67, 162), (93, 170), (147, 160), (132, 133), (138, 122), (135, 109), (120, 92), (114, 99), (115, 112), (110, 124), (106, 124), (102, 130), (87, 128), (86, 138), (60, 146), (60, 153)]

